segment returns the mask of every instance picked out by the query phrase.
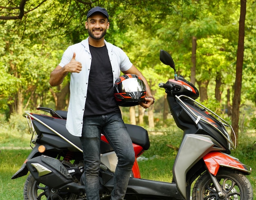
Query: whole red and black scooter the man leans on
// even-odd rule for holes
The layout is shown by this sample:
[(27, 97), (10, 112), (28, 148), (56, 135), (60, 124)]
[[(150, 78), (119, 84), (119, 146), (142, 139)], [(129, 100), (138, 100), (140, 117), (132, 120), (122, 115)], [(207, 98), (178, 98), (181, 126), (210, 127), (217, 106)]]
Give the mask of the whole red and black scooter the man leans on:
[[(171, 56), (160, 51), (160, 60), (172, 67)], [(160, 83), (177, 126), (184, 131), (175, 163), (173, 180), (159, 182), (140, 178), (135, 161), (125, 200), (253, 200), (246, 175), (251, 168), (230, 156), (235, 148), (226, 128), (232, 127), (220, 116), (195, 101), (198, 90), (177, 76)], [(39, 108), (52, 116), (25, 113), (33, 150), (14, 178), (30, 174), (24, 186), (24, 199), (85, 200), (83, 156), (80, 140), (65, 129), (64, 111)], [(127, 124), (135, 157), (149, 148), (148, 133)], [(110, 199), (117, 157), (101, 137), (100, 197)], [(171, 166), (170, 166), (171, 168)], [(192, 188), (193, 187), (193, 190)]]

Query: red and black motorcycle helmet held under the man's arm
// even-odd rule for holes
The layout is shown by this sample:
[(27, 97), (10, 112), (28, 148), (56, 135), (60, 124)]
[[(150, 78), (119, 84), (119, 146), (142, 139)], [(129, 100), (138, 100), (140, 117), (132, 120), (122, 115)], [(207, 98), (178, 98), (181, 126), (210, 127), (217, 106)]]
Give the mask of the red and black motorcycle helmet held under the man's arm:
[(139, 76), (125, 74), (116, 80), (114, 96), (119, 106), (136, 106), (146, 97), (146, 85)]

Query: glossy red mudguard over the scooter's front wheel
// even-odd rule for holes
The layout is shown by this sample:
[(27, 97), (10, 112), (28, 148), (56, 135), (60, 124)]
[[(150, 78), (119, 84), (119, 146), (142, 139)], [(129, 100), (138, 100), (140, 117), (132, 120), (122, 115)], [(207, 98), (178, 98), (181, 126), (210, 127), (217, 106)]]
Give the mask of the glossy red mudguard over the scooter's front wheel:
[(237, 158), (229, 156), (228, 154), (219, 151), (213, 151), (203, 157), (207, 169), (211, 174), (216, 176), (220, 167), (227, 167), (237, 169), (250, 174), (252, 168), (240, 162)]

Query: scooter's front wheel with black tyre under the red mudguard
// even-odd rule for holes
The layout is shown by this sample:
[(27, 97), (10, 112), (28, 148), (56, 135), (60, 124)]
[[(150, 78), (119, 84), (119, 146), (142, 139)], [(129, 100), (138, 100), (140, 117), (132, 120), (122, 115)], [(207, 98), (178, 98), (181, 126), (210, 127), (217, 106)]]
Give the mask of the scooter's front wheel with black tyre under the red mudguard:
[(238, 171), (220, 170), (216, 178), (225, 197), (220, 198), (208, 172), (204, 172), (193, 188), (193, 200), (253, 200), (252, 185)]

